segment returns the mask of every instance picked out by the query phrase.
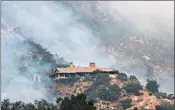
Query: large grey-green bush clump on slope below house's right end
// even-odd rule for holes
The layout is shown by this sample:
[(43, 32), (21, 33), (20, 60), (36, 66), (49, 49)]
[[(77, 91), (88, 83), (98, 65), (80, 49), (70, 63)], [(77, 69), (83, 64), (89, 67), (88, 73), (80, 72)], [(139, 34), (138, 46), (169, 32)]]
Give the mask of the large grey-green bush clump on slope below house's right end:
[(108, 74), (98, 74), (92, 85), (84, 93), (88, 96), (88, 99), (117, 100), (121, 89), (118, 85), (110, 85), (109, 82)]

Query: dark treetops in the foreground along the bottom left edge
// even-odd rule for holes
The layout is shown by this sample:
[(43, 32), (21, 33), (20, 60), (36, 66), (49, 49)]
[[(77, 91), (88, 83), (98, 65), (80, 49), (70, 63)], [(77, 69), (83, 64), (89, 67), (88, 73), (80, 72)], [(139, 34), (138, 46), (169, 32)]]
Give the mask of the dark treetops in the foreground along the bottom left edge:
[(86, 101), (84, 94), (71, 97), (58, 98), (56, 104), (46, 100), (24, 103), (21, 101), (10, 102), (5, 99), (1, 102), (1, 110), (95, 110), (94, 102)]

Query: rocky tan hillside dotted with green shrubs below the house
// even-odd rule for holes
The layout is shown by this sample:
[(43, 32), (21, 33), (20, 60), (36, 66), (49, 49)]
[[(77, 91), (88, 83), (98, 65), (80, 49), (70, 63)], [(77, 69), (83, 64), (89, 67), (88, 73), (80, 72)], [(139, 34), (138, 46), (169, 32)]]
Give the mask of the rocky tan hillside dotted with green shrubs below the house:
[[(155, 110), (156, 105), (174, 104), (173, 95), (158, 90), (153, 93), (143, 87), (135, 76), (127, 77), (124, 73), (118, 74), (116, 78), (107, 74), (85, 76), (76, 80), (74, 78), (69, 79), (69, 83), (66, 83), (66, 80), (58, 80), (57, 84), (61, 95), (84, 93), (88, 100), (95, 100), (95, 105), (100, 110), (133, 110), (136, 107), (139, 110)], [(129, 105), (122, 105), (123, 103)], [(123, 108), (125, 106), (126, 108)]]

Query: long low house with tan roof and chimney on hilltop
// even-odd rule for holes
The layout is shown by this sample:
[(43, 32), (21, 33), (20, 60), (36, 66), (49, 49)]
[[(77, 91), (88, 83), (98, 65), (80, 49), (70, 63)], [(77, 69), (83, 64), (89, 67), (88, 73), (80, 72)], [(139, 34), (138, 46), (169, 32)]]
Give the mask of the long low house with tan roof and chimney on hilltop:
[(90, 63), (89, 67), (80, 67), (74, 66), (72, 63), (69, 64), (69, 67), (66, 68), (55, 68), (54, 73), (51, 75), (53, 79), (63, 79), (71, 76), (85, 76), (85, 75), (94, 75), (98, 73), (108, 73), (110, 76), (114, 76), (118, 71), (115, 71), (112, 68), (101, 68), (96, 67), (95, 63)]

